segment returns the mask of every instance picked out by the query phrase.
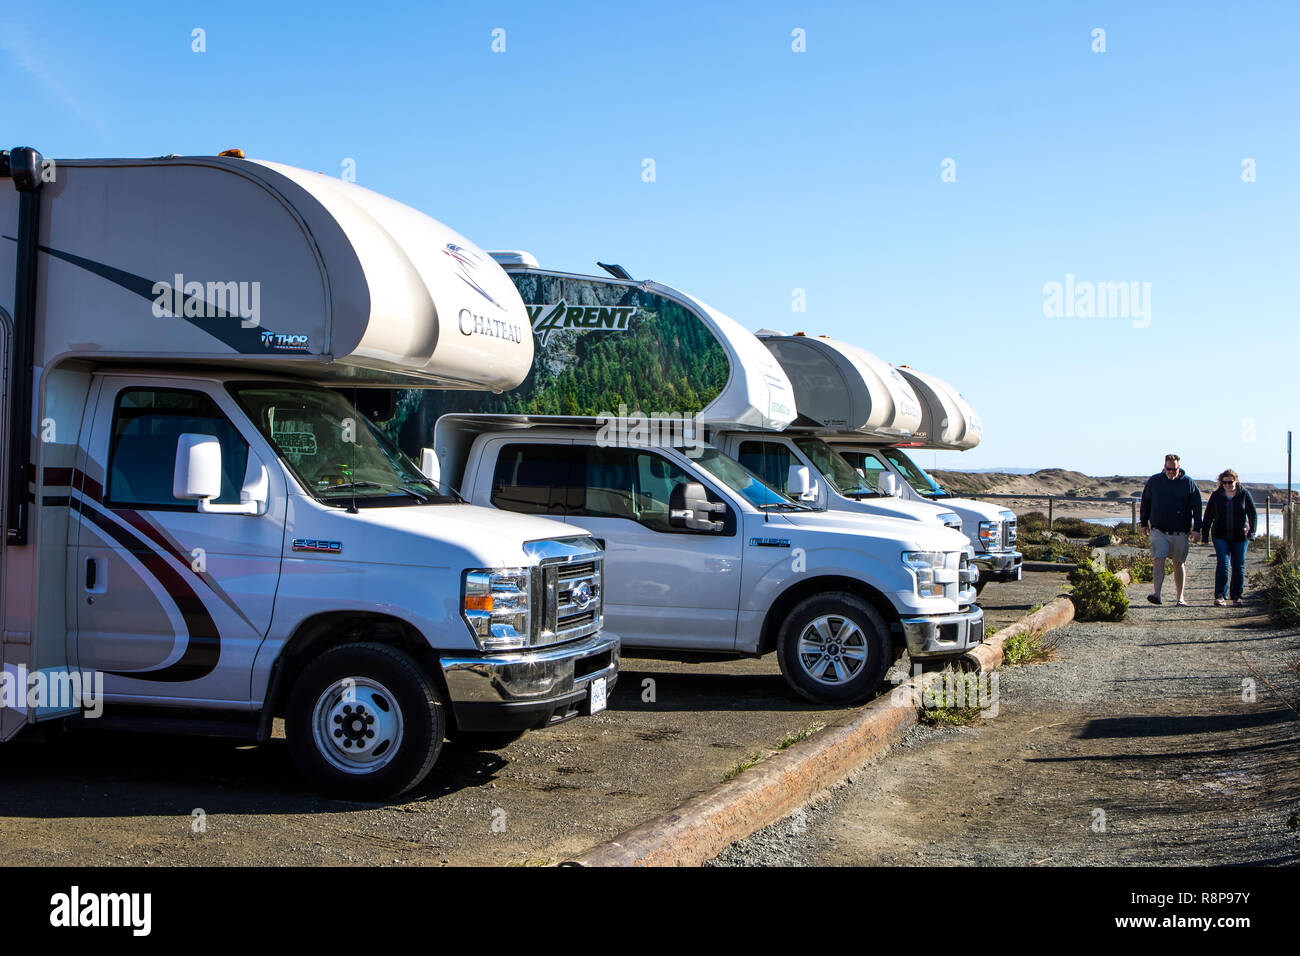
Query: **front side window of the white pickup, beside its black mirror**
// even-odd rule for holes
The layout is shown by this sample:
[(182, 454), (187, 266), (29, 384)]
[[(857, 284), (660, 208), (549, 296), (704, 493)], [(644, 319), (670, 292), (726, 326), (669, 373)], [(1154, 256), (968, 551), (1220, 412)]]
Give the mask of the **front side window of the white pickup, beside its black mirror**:
[(693, 535), (668, 522), (672, 489), (686, 481), (698, 479), (654, 451), (592, 446), (586, 449), (586, 502), (575, 514), (625, 518), (651, 531)]

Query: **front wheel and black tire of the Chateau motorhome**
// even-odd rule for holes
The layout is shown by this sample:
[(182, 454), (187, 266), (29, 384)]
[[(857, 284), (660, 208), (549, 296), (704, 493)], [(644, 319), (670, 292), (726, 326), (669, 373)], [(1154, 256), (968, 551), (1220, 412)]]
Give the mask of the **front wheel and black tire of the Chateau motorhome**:
[[(329, 739), (317, 739), (317, 722)], [(312, 787), (354, 800), (386, 800), (415, 787), (438, 760), (445, 732), (433, 680), (415, 658), (387, 644), (326, 650), (294, 682), (285, 713), (299, 773)]]

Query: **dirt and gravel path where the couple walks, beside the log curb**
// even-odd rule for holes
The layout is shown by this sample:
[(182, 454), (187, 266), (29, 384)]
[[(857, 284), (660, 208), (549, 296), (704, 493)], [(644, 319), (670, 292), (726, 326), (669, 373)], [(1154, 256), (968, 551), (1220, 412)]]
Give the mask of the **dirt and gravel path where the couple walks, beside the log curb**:
[(1249, 594), (1213, 607), (1206, 550), (1190, 571), (1191, 607), (1131, 587), (1128, 622), (1071, 624), (1058, 659), (1001, 671), (996, 717), (915, 728), (716, 862), (1300, 862), (1300, 632)]

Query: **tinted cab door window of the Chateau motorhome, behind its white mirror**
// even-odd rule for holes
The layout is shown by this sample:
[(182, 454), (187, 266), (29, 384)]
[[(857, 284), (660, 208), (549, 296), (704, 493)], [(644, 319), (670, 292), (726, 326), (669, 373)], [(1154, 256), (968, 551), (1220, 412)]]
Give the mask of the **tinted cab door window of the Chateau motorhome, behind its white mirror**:
[(176, 445), (186, 432), (221, 442), (218, 505), (238, 505), (248, 464), (248, 442), (202, 392), (122, 389), (113, 408), (108, 450), (108, 503), (136, 509), (196, 511), (195, 501), (172, 497)]

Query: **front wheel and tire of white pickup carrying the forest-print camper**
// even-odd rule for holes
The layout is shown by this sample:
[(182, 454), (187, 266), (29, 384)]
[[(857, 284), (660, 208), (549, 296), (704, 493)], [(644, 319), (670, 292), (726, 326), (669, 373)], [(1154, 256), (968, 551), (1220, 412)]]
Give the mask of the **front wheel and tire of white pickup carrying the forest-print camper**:
[[(800, 653), (801, 636), (814, 622), (823, 618), (827, 619), (824, 628), (832, 640), (822, 643), (832, 652), (838, 646), (833, 639), (844, 633), (845, 626), (852, 623), (855, 628), (857, 633), (848, 635), (849, 646), (864, 652), (855, 669), (852, 656), (841, 656), (835, 661), (833, 653), (828, 656), (823, 652), (820, 657)], [(836, 624), (836, 620), (840, 623)], [(861, 639), (857, 635), (861, 635)], [(816, 637), (816, 633), (812, 632), (810, 636)], [(801, 697), (815, 704), (841, 705), (857, 704), (874, 695), (894, 661), (893, 641), (889, 639), (889, 627), (884, 618), (861, 597), (842, 591), (800, 601), (781, 622), (776, 637), (776, 657), (785, 682)], [(832, 659), (827, 661), (828, 657)], [(819, 669), (820, 680), (814, 674)], [(827, 672), (832, 674), (833, 680), (826, 676)]]

